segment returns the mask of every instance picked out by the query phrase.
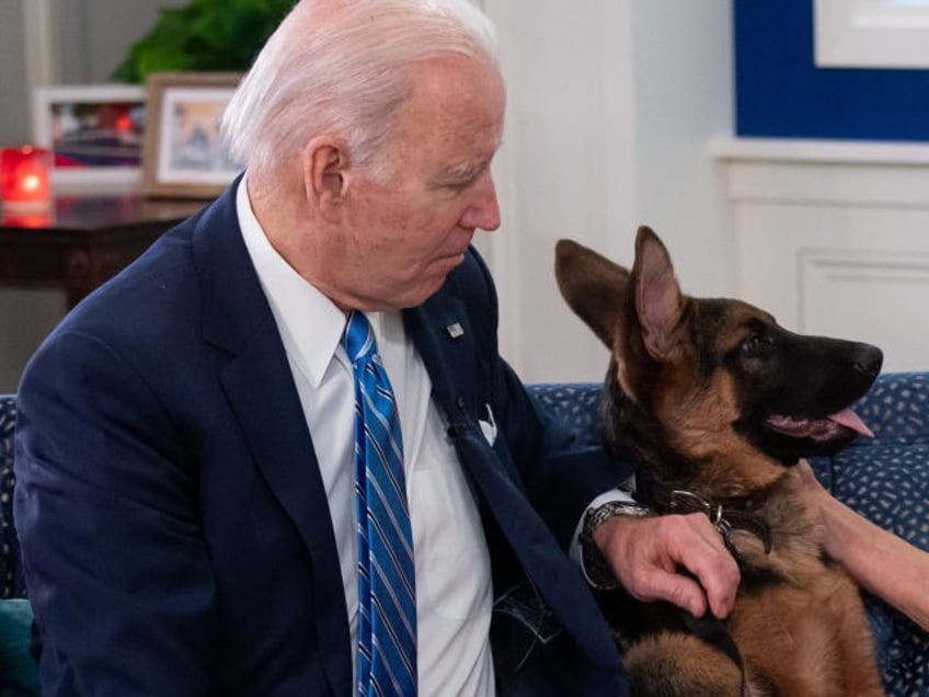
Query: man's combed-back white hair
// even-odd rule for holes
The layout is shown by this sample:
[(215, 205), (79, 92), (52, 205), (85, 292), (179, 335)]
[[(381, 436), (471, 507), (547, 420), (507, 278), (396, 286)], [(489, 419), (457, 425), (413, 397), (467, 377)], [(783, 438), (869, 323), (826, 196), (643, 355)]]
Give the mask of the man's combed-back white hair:
[(268, 169), (325, 134), (374, 169), (409, 67), (448, 55), (497, 65), (496, 31), (469, 0), (300, 0), (226, 110), (230, 155)]

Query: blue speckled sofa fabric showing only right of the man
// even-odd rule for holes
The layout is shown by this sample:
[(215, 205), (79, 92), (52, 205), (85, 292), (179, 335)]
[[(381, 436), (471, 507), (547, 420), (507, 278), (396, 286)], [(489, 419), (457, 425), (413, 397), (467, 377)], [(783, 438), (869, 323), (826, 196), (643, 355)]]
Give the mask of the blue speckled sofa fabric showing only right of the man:
[[(580, 439), (598, 437), (600, 384), (539, 384), (530, 391)], [(929, 551), (929, 373), (880, 376), (856, 412), (875, 437), (811, 460), (817, 478), (861, 515)], [(929, 635), (878, 598), (865, 594), (864, 602), (887, 694), (929, 697)]]

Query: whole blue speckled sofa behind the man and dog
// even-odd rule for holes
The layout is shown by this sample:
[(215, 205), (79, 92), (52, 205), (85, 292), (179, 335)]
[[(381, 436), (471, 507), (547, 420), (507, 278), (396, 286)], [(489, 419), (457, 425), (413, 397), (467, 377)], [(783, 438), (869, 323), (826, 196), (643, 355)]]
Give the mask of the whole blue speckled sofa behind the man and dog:
[[(578, 438), (597, 438), (600, 385), (540, 384), (530, 390)], [(929, 373), (882, 375), (856, 411), (876, 437), (858, 438), (833, 458), (813, 460), (816, 476), (861, 514), (929, 550)], [(15, 398), (0, 396), (0, 606), (9, 608), (0, 613), (0, 622), (14, 624), (11, 631), (0, 626), (0, 641), (15, 636), (13, 653), (22, 654), (27, 644), (22, 627), (26, 590), (12, 512), (14, 423)], [(876, 598), (865, 596), (865, 604), (887, 693), (929, 697), (929, 635)], [(0, 645), (0, 697), (31, 694), (32, 676), (13, 685), (4, 676), (4, 670), (23, 665), (19, 654), (13, 656), (19, 663), (8, 664), (4, 650)]]

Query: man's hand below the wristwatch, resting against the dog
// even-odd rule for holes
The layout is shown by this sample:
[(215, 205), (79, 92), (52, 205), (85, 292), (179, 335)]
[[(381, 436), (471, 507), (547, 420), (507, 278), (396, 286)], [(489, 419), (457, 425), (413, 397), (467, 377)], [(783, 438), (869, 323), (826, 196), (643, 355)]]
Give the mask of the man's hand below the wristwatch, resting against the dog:
[[(616, 515), (594, 530), (594, 541), (622, 586), (640, 601), (668, 601), (695, 617), (707, 604), (726, 617), (735, 604), (738, 567), (702, 513)], [(687, 575), (681, 568), (690, 572)]]

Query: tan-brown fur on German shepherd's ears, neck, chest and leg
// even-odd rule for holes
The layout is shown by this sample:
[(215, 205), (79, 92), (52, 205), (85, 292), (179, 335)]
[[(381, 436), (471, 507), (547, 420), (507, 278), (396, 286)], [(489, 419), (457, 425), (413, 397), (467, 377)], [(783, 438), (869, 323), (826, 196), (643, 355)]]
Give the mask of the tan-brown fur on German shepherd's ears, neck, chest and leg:
[[(631, 274), (562, 241), (557, 276), (569, 305), (611, 350), (615, 382), (607, 389), (651, 414), (683, 461), (699, 464), (670, 468), (650, 461), (656, 480), (709, 501), (749, 501), (770, 527), (770, 552), (752, 533), (736, 529), (732, 536), (744, 581), (726, 629), (744, 660), (747, 694), (883, 695), (859, 590), (826, 559), (823, 530), (791, 494), (799, 475), (732, 427), (739, 418), (737, 385), (721, 367), (723, 356), (744, 341), (753, 321), (773, 319), (727, 300), (722, 319), (712, 322), (711, 348), (698, 355), (691, 332), (704, 331), (709, 322), (699, 302), (680, 293), (664, 245), (647, 229), (640, 230)], [(640, 292), (655, 286), (658, 293)], [(720, 366), (708, 368), (712, 361)], [(608, 439), (626, 437), (605, 425)], [(749, 575), (762, 581), (746, 585)], [(735, 662), (697, 637), (676, 629), (646, 632), (624, 648), (641, 694), (742, 694)]]

